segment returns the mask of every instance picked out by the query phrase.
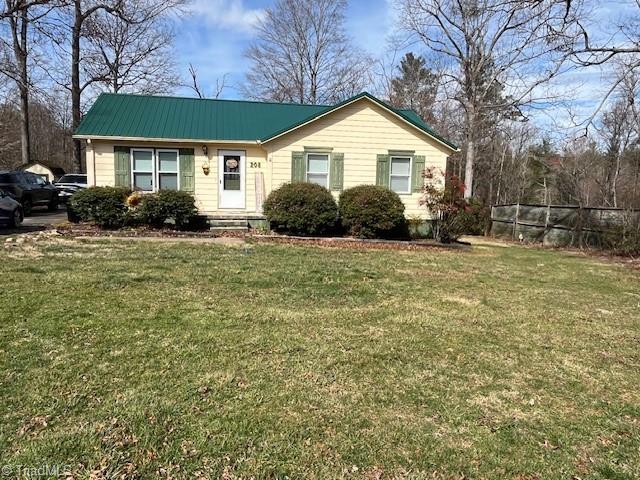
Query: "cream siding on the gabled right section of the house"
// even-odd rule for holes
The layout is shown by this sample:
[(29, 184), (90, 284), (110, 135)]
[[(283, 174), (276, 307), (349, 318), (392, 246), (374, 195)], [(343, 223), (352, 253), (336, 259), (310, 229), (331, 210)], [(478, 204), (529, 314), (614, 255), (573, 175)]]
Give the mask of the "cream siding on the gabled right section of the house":
[[(344, 153), (344, 188), (376, 183), (377, 155), (413, 150), (425, 167), (444, 171), (449, 151), (435, 140), (368, 99), (358, 100), (324, 118), (266, 143), (271, 163), (270, 189), (291, 181), (291, 152), (329, 147)], [(336, 192), (336, 196), (339, 192)], [(421, 194), (401, 194), (407, 216), (428, 217)]]

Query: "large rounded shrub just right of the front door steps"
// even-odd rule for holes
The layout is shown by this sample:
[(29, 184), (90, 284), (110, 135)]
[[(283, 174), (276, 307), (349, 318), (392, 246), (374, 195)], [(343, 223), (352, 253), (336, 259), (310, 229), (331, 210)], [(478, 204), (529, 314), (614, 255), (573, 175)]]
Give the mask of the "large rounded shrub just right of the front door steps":
[(338, 218), (331, 192), (314, 183), (287, 183), (269, 194), (263, 208), (271, 228), (288, 235), (327, 235)]

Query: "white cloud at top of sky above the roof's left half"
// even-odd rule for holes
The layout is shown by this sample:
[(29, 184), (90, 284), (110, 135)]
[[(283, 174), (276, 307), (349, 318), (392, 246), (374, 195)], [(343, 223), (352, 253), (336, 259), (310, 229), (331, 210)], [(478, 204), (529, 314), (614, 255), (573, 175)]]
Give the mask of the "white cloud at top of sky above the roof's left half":
[(252, 33), (264, 10), (246, 7), (242, 0), (195, 0), (190, 7), (198, 22), (203, 20), (212, 29), (240, 30)]

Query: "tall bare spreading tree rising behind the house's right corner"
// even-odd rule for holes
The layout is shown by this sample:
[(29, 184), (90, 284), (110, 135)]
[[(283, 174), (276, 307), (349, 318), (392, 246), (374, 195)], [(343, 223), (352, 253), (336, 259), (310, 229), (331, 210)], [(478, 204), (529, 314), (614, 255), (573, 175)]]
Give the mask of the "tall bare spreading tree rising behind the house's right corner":
[(449, 67), (465, 116), (465, 196), (489, 116), (522, 114), (568, 58), (573, 14), (560, 0), (401, 0), (404, 27)]

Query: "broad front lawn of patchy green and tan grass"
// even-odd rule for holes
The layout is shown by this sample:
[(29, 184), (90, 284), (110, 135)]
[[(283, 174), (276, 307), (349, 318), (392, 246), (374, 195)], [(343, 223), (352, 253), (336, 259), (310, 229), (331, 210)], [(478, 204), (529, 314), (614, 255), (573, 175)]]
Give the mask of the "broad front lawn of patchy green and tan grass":
[(0, 464), (640, 476), (640, 275), (620, 265), (490, 244), (107, 241), (0, 264)]

